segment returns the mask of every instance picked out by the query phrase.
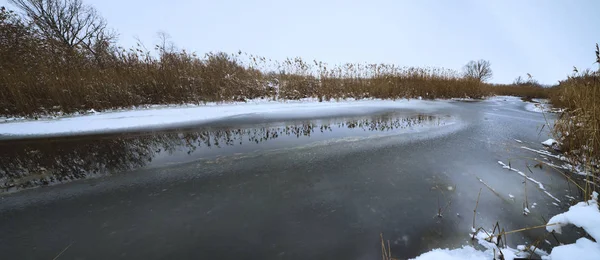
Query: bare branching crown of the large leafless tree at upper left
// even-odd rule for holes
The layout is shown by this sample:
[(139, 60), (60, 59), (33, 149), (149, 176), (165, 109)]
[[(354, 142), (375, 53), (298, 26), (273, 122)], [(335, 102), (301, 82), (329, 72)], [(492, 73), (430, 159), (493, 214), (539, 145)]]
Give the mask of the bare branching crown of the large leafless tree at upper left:
[(96, 9), (81, 0), (9, 1), (25, 13), (45, 38), (71, 50), (80, 48), (97, 56), (116, 39)]

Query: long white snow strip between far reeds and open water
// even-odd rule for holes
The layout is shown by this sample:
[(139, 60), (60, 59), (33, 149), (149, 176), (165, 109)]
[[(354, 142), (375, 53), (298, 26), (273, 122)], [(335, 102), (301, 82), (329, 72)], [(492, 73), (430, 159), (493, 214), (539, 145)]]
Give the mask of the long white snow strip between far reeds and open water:
[(248, 103), (208, 104), (203, 106), (165, 107), (143, 110), (94, 113), (85, 116), (10, 121), (0, 124), (0, 136), (57, 136), (82, 133), (102, 133), (142, 128), (198, 124), (227, 117), (258, 116), (261, 119), (303, 119), (314, 117), (350, 116), (392, 109), (418, 109), (433, 112), (452, 106), (446, 101), (424, 100), (349, 100), (318, 102), (253, 101)]

